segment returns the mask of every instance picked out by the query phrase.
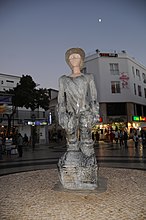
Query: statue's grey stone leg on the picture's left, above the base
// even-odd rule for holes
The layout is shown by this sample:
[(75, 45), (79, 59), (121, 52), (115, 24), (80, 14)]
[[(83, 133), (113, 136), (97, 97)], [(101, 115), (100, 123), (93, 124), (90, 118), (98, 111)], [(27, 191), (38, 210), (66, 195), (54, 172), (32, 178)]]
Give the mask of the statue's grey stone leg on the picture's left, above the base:
[(71, 115), (66, 130), (67, 151), (78, 151), (78, 121), (75, 115)]

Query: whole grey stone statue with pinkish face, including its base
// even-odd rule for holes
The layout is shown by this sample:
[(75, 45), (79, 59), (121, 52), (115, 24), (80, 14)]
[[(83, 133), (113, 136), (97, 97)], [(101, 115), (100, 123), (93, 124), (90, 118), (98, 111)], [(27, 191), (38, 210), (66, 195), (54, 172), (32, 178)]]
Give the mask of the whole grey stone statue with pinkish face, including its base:
[(67, 189), (95, 189), (97, 162), (91, 129), (99, 121), (99, 103), (92, 74), (81, 69), (85, 52), (71, 48), (65, 54), (72, 73), (59, 78), (58, 117), (66, 131), (67, 152), (58, 163), (60, 181)]

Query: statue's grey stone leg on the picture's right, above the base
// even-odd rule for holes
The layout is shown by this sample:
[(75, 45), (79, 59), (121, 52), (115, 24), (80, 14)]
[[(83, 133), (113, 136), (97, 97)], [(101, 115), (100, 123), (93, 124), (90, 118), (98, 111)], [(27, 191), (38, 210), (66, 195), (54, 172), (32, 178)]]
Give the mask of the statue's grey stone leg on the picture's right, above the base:
[(90, 112), (83, 112), (80, 115), (79, 120), (80, 127), (80, 149), (86, 156), (91, 156), (94, 154), (93, 140), (92, 140), (92, 122), (90, 117)]

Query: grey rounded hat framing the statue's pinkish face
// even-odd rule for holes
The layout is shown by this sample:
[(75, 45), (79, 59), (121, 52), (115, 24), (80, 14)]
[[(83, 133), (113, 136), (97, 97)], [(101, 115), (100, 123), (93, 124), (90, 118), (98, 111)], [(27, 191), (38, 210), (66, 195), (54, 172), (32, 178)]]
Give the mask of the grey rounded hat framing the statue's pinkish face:
[(80, 56), (81, 56), (80, 69), (82, 69), (82, 67), (83, 67), (83, 62), (84, 62), (84, 59), (85, 59), (85, 52), (84, 52), (84, 50), (77, 47), (77, 48), (70, 48), (70, 49), (68, 49), (68, 50), (66, 51), (66, 53), (65, 53), (65, 60), (66, 60), (66, 62), (67, 62), (67, 64), (68, 64), (69, 66), (71, 66), (71, 64), (70, 64), (70, 62), (69, 62), (69, 56), (70, 56), (71, 54), (73, 54), (73, 53), (80, 54)]

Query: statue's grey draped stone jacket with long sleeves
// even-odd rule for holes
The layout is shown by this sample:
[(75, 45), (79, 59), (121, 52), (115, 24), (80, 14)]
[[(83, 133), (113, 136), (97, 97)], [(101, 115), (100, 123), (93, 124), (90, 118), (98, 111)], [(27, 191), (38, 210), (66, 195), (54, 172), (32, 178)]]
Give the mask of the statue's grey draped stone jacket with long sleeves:
[(65, 117), (78, 117), (83, 112), (91, 112), (99, 120), (99, 103), (93, 74), (61, 76), (58, 93), (59, 124), (64, 128)]

